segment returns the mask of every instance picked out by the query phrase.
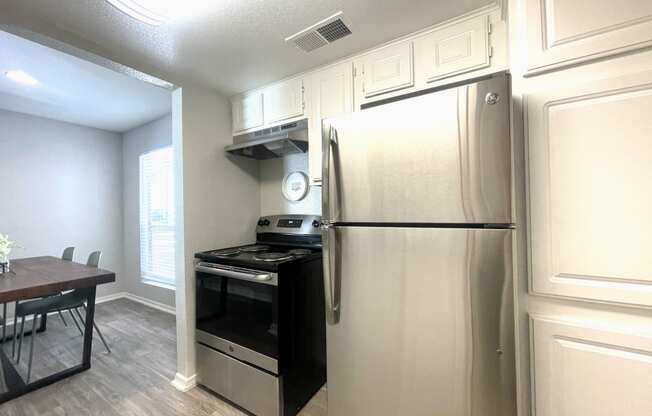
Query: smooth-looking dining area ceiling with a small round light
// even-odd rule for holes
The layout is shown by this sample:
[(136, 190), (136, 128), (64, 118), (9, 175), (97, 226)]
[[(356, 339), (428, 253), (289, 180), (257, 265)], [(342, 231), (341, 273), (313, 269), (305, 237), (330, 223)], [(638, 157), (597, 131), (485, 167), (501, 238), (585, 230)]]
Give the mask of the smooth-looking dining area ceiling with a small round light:
[[(37, 85), (3, 74), (22, 70)], [(0, 109), (125, 132), (170, 112), (171, 93), (0, 31)]]

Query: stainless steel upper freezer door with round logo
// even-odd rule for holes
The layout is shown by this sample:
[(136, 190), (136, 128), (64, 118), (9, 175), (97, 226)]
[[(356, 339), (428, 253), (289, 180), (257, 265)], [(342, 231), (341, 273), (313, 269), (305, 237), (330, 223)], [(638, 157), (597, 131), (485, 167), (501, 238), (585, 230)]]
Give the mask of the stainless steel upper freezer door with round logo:
[(323, 122), (333, 222), (511, 223), (509, 77)]

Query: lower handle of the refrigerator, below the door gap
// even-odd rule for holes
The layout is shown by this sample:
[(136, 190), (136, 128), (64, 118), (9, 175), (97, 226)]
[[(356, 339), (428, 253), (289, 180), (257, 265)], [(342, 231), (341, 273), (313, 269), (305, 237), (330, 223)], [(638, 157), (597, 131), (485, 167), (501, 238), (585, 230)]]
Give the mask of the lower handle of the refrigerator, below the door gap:
[(329, 325), (337, 325), (340, 321), (340, 273), (337, 264), (334, 264), (338, 254), (336, 227), (329, 222), (324, 222), (321, 229), (326, 322)]

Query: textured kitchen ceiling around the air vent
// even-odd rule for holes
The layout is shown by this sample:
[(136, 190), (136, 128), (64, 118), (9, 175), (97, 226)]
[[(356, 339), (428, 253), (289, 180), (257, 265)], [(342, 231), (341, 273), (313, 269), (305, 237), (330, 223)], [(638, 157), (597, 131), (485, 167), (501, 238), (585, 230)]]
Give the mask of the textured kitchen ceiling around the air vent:
[[(176, 84), (195, 82), (232, 94), (492, 2), (185, 0), (196, 9), (155, 27), (104, 0), (0, 0), (0, 23), (39, 32)], [(339, 10), (353, 36), (310, 54), (285, 44), (285, 37)]]

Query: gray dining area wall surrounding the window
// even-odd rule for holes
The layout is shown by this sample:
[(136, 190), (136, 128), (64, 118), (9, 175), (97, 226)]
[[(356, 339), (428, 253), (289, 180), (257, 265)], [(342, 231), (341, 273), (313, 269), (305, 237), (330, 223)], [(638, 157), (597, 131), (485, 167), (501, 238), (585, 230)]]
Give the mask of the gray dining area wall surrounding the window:
[(139, 156), (172, 145), (172, 116), (128, 131), (123, 136), (124, 273), (122, 290), (174, 307), (174, 290), (145, 284), (140, 278)]

